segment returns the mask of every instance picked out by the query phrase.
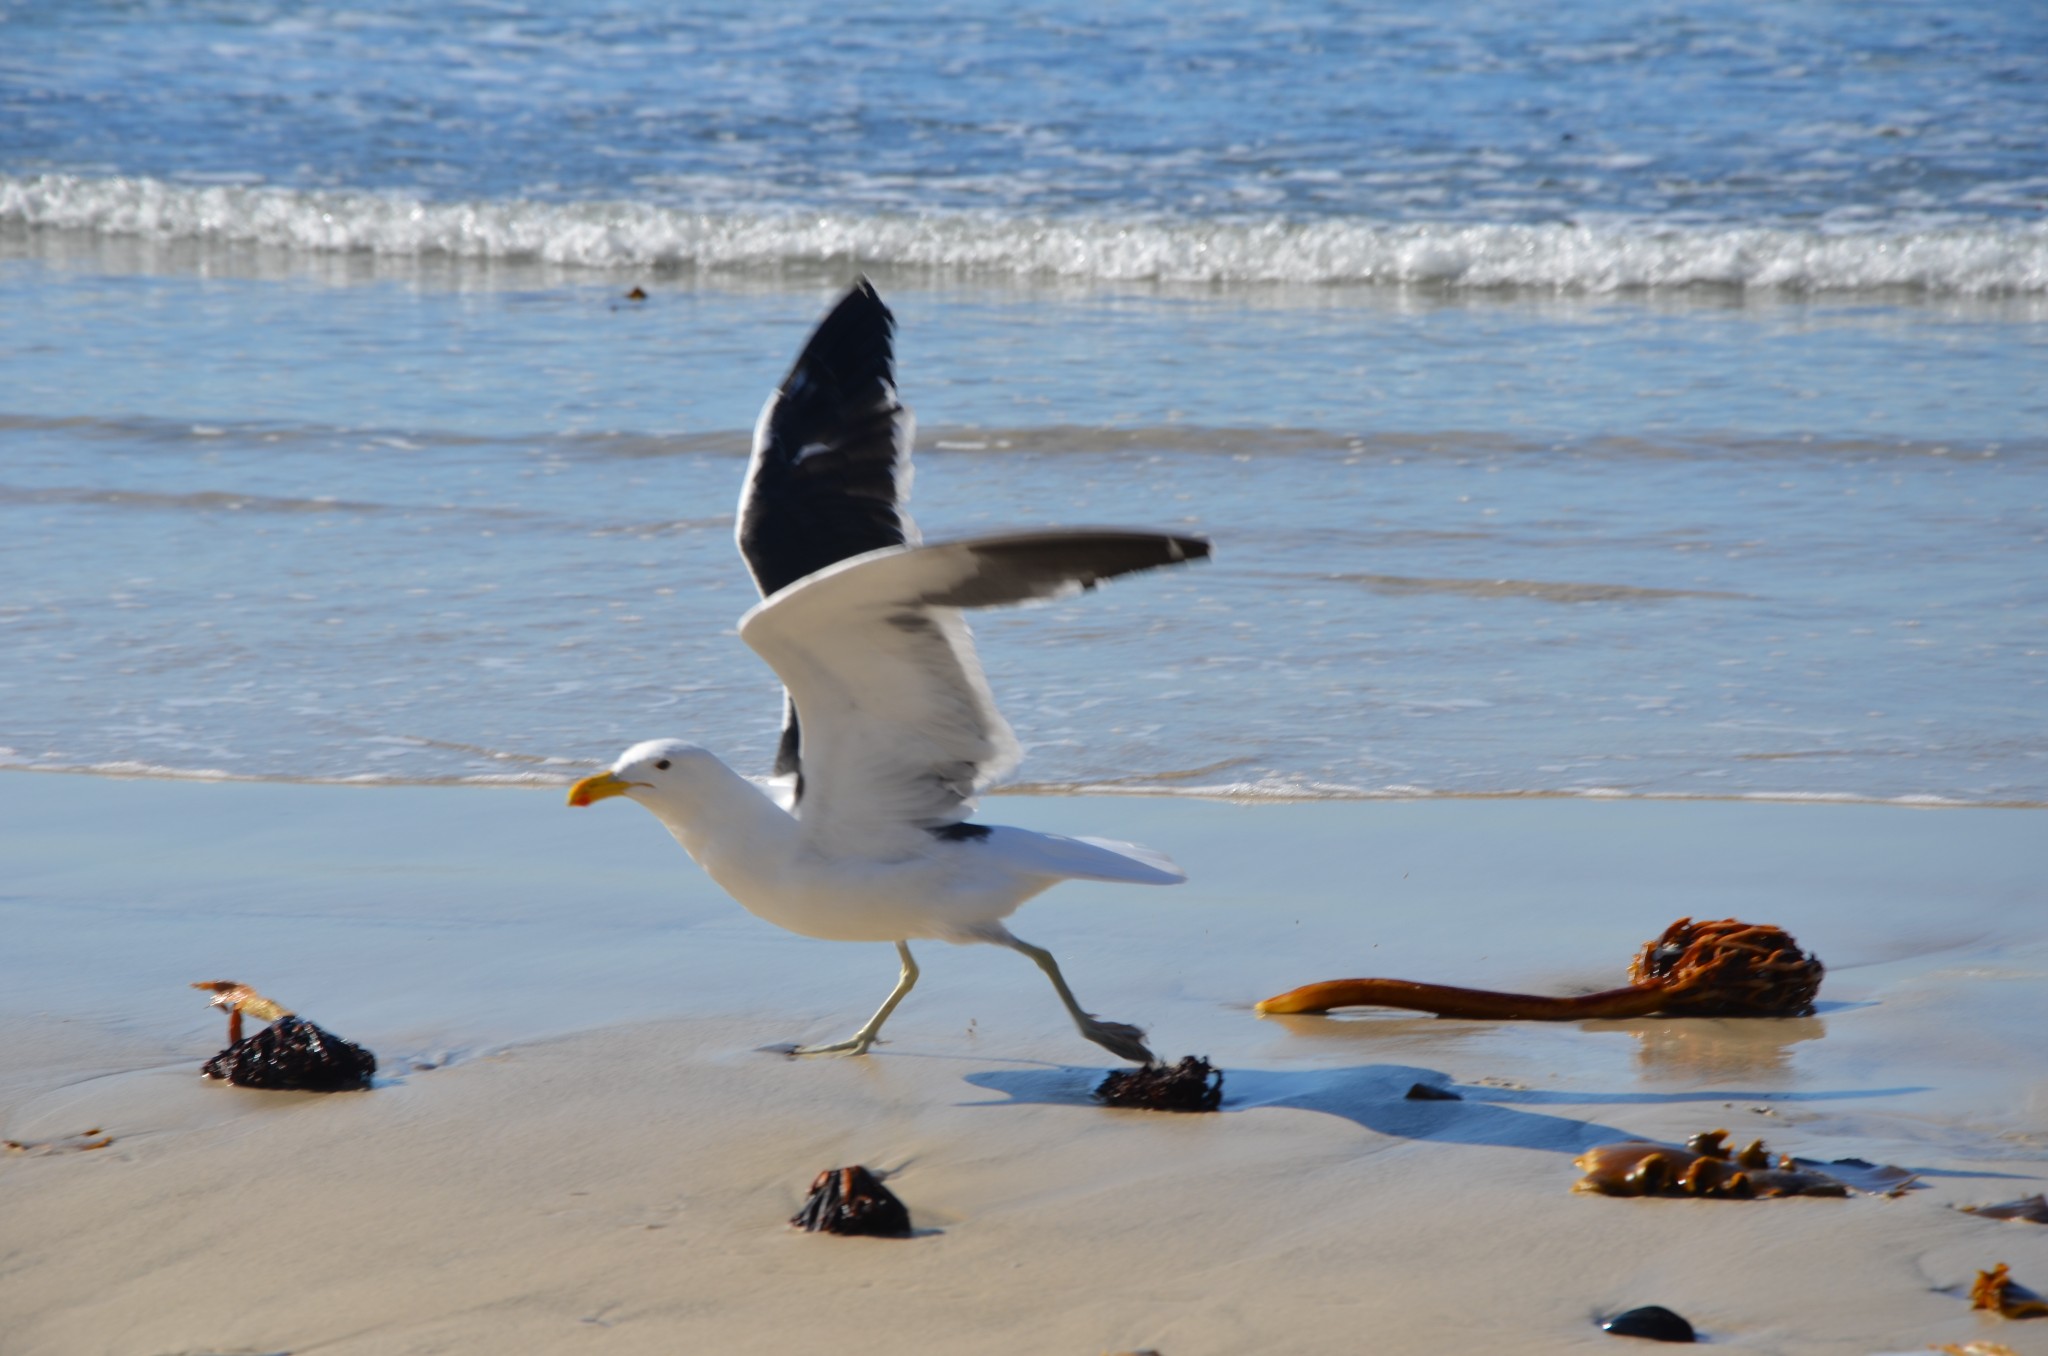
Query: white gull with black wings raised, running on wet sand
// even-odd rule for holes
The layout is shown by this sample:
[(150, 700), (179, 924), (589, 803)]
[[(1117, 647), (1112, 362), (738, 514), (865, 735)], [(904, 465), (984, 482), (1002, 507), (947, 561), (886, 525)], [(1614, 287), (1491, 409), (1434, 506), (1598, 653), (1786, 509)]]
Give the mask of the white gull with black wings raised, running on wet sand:
[(936, 938), (1030, 957), (1085, 1039), (1153, 1065), (1143, 1030), (1085, 1012), (1053, 952), (1004, 920), (1061, 881), (1186, 875), (1137, 844), (971, 819), (1022, 750), (963, 612), (1202, 559), (1208, 543), (1071, 528), (922, 545), (903, 510), (913, 418), (895, 391), (893, 334), (862, 279), (754, 430), (737, 541), (762, 602), (739, 619), (739, 639), (782, 680), (774, 772), (786, 801), (694, 744), (649, 739), (575, 782), (569, 805), (645, 805), (725, 893), (778, 928), (895, 944), (897, 983), (866, 1026), (793, 1055), (864, 1055), (918, 983), (909, 942)]

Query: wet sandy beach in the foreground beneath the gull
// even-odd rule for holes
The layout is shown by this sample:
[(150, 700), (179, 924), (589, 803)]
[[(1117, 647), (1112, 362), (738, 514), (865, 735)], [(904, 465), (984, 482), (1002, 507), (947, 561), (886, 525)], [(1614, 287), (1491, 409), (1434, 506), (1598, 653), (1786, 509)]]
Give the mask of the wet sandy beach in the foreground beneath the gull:
[[(883, 946), (760, 924), (643, 813), (559, 791), (0, 776), (0, 1352), (1577, 1352), (1683, 1313), (1726, 1352), (2048, 1352), (1970, 1313), (2048, 1286), (2038, 811), (997, 797), (1116, 832), (1180, 889), (1030, 903), (1090, 1008), (1225, 1069), (1221, 1114), (1106, 1110), (1036, 973), (924, 946), (864, 1059)], [(1257, 1018), (1399, 975), (1622, 981), (1677, 916), (1829, 965), (1784, 1022)], [(205, 1084), (231, 977), (381, 1059), (365, 1094)], [(1462, 1100), (1407, 1100), (1411, 1084)], [(1573, 1194), (1571, 1159), (1729, 1127), (1919, 1184), (1849, 1200)], [(866, 1163), (909, 1239), (793, 1231)]]

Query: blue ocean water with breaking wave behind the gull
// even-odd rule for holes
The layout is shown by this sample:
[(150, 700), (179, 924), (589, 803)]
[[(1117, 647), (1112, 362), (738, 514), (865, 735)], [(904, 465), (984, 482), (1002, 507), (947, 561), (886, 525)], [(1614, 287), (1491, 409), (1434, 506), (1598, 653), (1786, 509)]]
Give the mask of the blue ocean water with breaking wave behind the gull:
[[(766, 768), (877, 281), (1018, 780), (2048, 803), (2048, 10), (0, 8), (0, 766)], [(631, 289), (645, 299), (629, 299)]]

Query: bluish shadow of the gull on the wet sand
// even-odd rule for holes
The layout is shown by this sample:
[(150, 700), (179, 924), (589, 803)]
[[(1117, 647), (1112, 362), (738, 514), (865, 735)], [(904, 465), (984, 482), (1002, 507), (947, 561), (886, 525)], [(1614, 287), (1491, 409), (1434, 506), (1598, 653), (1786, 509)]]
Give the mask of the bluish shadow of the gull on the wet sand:
[[(999, 1100), (963, 1102), (963, 1106), (1100, 1106), (1094, 1088), (1102, 1079), (1094, 1069), (987, 1069), (969, 1073), (975, 1088), (1001, 1094)], [(1415, 1086), (1434, 1090), (1409, 1096)], [(1421, 1139), (1454, 1145), (1499, 1145), (1507, 1149), (1538, 1149), (1579, 1155), (1593, 1145), (1642, 1139), (1599, 1120), (1559, 1116), (1524, 1106), (1542, 1104), (1614, 1104), (1663, 1106), (1675, 1102), (1837, 1102), (1884, 1098), (1925, 1088), (1874, 1088), (1860, 1092), (1540, 1092), (1530, 1088), (1491, 1088), (1485, 1084), (1454, 1084), (1438, 1069), (1415, 1065), (1352, 1065), (1343, 1069), (1229, 1069), (1223, 1088), (1223, 1114), (1290, 1108), (1339, 1116), (1376, 1135)], [(1452, 1096), (1444, 1096), (1452, 1094)]]

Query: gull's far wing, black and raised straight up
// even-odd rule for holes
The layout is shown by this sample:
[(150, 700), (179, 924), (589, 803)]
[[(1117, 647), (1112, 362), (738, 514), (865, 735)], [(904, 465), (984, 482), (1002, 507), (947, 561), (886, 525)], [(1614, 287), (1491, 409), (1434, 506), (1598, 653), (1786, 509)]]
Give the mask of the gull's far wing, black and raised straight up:
[[(895, 320), (862, 279), (817, 324), (762, 406), (739, 492), (739, 555), (774, 594), (852, 555), (918, 541), (909, 498), (913, 420), (895, 393)], [(799, 766), (784, 719), (776, 772)]]

